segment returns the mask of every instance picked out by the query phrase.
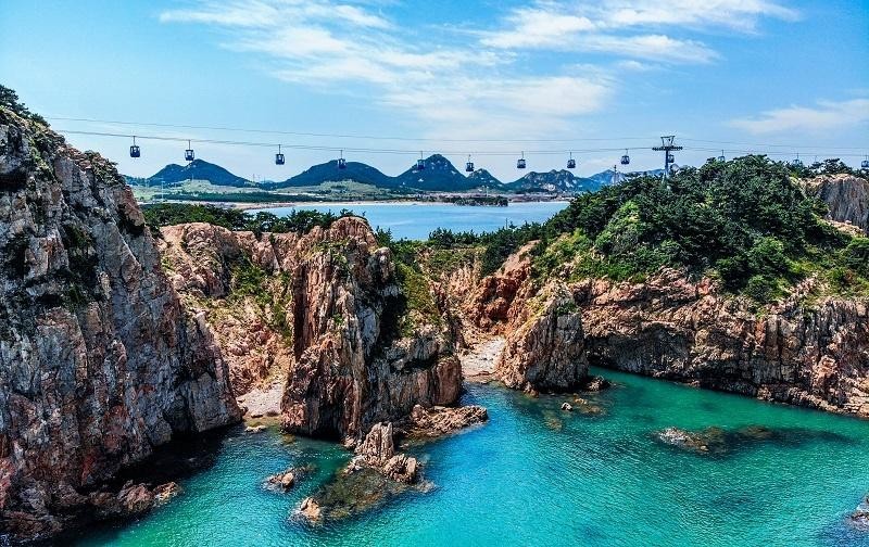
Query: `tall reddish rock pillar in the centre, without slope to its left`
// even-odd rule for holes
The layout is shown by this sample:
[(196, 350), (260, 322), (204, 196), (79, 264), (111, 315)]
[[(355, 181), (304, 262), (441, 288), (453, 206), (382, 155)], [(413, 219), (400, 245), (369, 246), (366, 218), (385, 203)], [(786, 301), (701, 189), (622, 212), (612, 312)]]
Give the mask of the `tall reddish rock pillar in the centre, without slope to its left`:
[(348, 239), (341, 254), (317, 252), (295, 269), (295, 362), (282, 403), (289, 431), (357, 438), (414, 405), (458, 399), (461, 366), (444, 333), (389, 332), (383, 319), (396, 313), (400, 289), (389, 250), (371, 243)]

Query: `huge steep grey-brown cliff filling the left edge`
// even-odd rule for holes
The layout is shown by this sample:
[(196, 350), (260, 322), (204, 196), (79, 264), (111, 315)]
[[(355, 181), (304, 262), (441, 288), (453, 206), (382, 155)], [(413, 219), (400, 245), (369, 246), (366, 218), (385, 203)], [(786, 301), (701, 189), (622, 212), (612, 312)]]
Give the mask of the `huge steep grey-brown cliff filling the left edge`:
[(118, 471), (240, 418), (204, 318), (181, 307), (113, 165), (2, 107), (0, 250), (0, 530), (105, 516)]

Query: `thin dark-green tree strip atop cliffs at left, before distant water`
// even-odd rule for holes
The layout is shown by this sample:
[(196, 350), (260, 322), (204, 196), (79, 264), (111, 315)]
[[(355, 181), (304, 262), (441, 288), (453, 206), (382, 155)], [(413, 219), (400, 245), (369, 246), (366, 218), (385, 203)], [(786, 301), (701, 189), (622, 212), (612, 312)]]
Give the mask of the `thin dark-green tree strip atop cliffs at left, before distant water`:
[(174, 226), (185, 222), (209, 222), (230, 230), (248, 230), (262, 232), (299, 232), (306, 233), (315, 226), (328, 228), (341, 217), (350, 216), (349, 211), (338, 215), (328, 212), (297, 209), (287, 216), (279, 217), (272, 213), (252, 215), (244, 211), (218, 207), (215, 205), (193, 205), (181, 203), (162, 203), (142, 207), (144, 220), (151, 228)]

